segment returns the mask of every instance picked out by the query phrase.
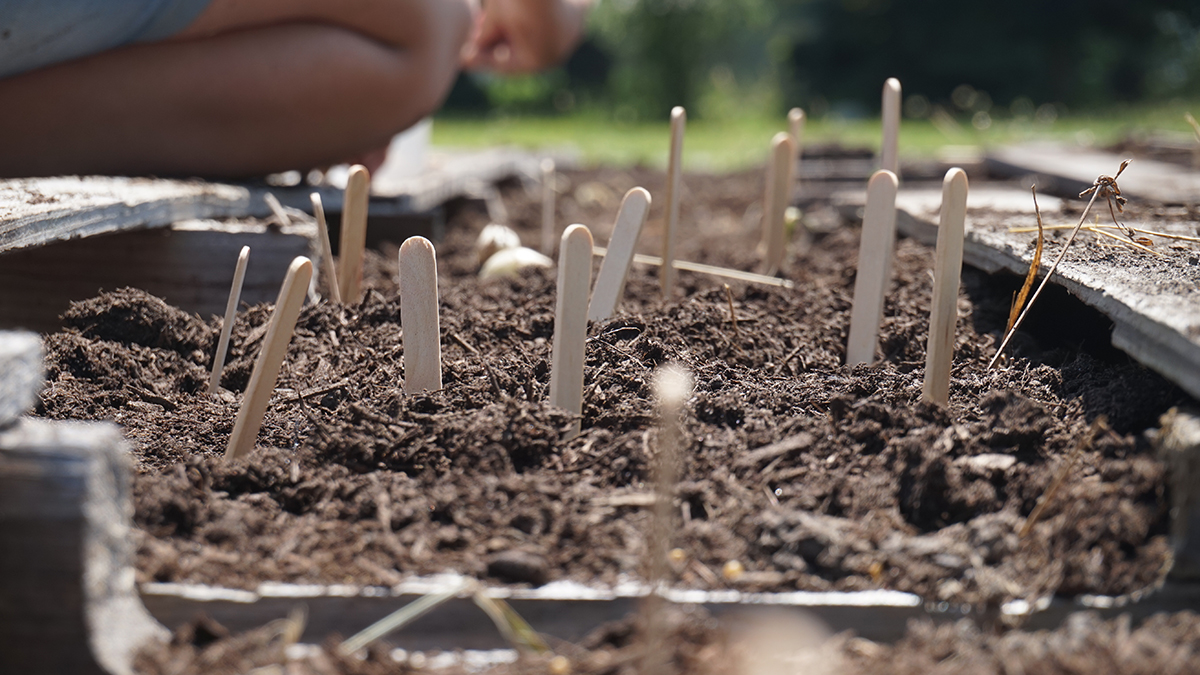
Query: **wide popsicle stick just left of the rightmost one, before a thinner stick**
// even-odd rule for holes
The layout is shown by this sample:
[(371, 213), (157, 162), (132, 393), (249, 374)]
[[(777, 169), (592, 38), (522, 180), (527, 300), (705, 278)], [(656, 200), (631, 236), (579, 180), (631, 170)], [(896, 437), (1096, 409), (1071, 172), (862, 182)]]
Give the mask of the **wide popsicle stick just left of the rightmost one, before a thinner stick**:
[(854, 304), (850, 312), (846, 365), (872, 363), (880, 344), (883, 298), (892, 280), (892, 255), (896, 237), (896, 187), (889, 171), (877, 171), (866, 184), (866, 209), (858, 244)]

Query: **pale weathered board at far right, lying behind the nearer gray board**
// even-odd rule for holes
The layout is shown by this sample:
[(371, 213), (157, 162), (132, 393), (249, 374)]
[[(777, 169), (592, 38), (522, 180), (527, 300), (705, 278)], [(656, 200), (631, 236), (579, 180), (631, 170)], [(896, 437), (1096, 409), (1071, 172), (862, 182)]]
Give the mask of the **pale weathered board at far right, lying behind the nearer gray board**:
[[(1058, 144), (997, 148), (988, 168), (1000, 175), (1038, 177), (1039, 190), (1074, 197), (1098, 175), (1112, 175), (1128, 156)], [(1121, 174), (1121, 193), (1168, 204), (1200, 202), (1200, 172), (1157, 160), (1134, 160)]]

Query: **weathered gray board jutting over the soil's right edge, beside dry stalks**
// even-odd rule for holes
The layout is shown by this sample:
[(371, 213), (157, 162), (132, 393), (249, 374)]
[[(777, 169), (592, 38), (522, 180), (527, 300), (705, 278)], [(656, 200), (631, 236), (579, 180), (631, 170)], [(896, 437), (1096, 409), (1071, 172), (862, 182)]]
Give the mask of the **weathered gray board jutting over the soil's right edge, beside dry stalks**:
[[(968, 201), (967, 264), (1022, 276), (1028, 271), (1037, 234), (1008, 232), (1009, 227), (1036, 226), (1032, 199), (1022, 192), (1012, 190), (1003, 196), (994, 190), (986, 199)], [(1018, 210), (1022, 201), (1028, 207)], [(926, 191), (901, 190), (896, 197), (899, 232), (932, 245), (937, 237), (936, 210), (931, 210), (935, 202)], [(1078, 216), (1061, 215), (1061, 202), (1043, 197), (1039, 202), (1045, 225), (1078, 221)], [(1126, 225), (1195, 235), (1193, 223), (1130, 220)], [(1067, 233), (1048, 233), (1043, 261), (1054, 259)], [(1200, 398), (1200, 251), (1194, 246), (1174, 250), (1163, 243), (1157, 249), (1164, 255), (1154, 256), (1109, 244), (1115, 243), (1080, 235), (1055, 271), (1054, 282), (1112, 319), (1115, 347)]]

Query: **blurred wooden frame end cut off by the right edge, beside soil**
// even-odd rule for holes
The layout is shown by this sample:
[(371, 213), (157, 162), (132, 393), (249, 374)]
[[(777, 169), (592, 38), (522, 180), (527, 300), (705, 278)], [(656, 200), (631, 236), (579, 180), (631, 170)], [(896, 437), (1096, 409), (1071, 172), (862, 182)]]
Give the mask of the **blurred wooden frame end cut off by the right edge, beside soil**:
[(1200, 417), (1171, 410), (1162, 424), (1154, 444), (1170, 467), (1171, 578), (1200, 581)]

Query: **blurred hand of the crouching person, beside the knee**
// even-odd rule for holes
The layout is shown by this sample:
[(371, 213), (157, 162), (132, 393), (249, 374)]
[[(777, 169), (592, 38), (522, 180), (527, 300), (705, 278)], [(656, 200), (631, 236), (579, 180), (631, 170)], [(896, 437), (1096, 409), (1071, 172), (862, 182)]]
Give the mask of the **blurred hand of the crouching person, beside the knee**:
[(504, 73), (553, 66), (583, 35), (590, 0), (482, 0), (463, 66)]

